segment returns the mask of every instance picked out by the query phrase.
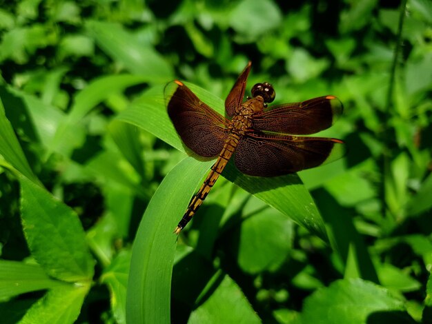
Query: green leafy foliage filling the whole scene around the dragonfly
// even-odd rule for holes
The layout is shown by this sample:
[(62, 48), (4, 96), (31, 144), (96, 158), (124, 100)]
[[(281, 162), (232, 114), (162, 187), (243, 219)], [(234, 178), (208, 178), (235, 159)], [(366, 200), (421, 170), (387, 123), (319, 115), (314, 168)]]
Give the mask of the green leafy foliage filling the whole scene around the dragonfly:
[[(249, 60), (348, 154), (230, 164), (177, 239), (213, 161), (164, 86), (223, 112)], [(431, 1), (1, 1), (0, 71), (2, 323), (431, 323)]]

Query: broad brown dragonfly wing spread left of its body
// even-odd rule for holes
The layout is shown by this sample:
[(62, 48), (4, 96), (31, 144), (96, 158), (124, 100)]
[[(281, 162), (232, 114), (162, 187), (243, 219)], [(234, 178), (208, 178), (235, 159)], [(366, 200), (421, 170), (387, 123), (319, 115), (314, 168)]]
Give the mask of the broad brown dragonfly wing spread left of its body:
[(228, 137), (228, 120), (199, 100), (180, 81), (165, 87), (168, 115), (190, 150), (201, 156), (217, 156)]

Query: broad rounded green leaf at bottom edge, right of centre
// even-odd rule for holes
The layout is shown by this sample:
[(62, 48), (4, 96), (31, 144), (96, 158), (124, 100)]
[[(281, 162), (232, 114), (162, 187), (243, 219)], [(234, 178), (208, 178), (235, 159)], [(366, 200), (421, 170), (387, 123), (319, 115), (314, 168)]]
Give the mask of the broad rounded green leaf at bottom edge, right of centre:
[(380, 314), (390, 320), (391, 312), (404, 310), (404, 302), (379, 285), (361, 279), (340, 280), (306, 298), (302, 323), (367, 323)]

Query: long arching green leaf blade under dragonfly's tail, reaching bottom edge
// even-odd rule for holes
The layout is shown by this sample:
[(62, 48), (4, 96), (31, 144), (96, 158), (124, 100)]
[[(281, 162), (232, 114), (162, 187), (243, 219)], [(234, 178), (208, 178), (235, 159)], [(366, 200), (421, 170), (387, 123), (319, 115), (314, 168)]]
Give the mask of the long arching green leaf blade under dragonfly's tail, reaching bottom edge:
[(190, 157), (164, 178), (139, 225), (132, 249), (126, 298), (128, 323), (170, 323), (173, 230), (212, 164)]

